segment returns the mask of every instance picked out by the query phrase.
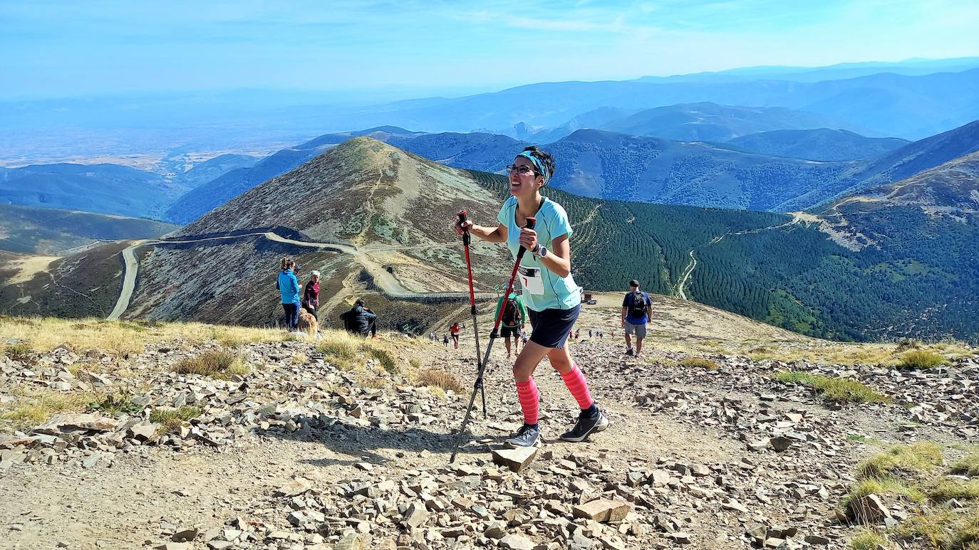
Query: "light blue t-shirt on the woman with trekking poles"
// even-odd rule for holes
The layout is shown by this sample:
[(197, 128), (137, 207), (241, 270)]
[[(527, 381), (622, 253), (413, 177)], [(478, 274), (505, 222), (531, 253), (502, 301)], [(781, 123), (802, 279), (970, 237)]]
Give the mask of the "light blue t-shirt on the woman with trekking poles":
[[(567, 234), (571, 238), (574, 231), (568, 222), (568, 213), (560, 204), (544, 198), (536, 214), (537, 241), (550, 254), (554, 237)], [(496, 221), (506, 226), (506, 245), (513, 257), (520, 250), (520, 228), (517, 227), (517, 197), (506, 199), (499, 209)], [(560, 276), (548, 270), (530, 251), (524, 254), (517, 272), (517, 280), (523, 288), (524, 302), (535, 312), (544, 310), (571, 310), (582, 303), (582, 288), (574, 277)]]

